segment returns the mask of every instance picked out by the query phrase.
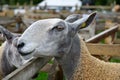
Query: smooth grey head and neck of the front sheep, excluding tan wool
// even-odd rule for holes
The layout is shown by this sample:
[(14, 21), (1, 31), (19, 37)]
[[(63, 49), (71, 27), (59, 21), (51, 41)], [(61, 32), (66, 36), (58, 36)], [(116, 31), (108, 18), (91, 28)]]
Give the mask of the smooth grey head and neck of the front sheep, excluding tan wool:
[(95, 16), (96, 12), (75, 21), (71, 18), (38, 20), (23, 32), (17, 49), (24, 59), (54, 56), (66, 80), (72, 80), (81, 56), (78, 31), (87, 27)]

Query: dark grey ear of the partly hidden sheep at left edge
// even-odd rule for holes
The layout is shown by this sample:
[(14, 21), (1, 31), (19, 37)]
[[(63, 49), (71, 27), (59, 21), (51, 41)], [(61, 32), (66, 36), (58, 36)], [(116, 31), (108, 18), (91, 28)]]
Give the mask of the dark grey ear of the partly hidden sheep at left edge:
[(7, 29), (5, 29), (2, 26), (0, 26), (0, 32), (5, 37), (5, 39), (8, 41), (11, 41), (14, 36), (10, 31), (8, 31)]

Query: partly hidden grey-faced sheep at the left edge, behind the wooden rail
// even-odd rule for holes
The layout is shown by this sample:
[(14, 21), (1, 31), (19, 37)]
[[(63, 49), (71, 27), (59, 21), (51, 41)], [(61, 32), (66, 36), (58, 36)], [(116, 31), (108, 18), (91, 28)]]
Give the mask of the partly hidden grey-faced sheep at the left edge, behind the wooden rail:
[(5, 42), (0, 46), (0, 80), (22, 66), (27, 62), (18, 53), (16, 42), (20, 34), (11, 33), (4, 27), (0, 26), (0, 32), (5, 37)]

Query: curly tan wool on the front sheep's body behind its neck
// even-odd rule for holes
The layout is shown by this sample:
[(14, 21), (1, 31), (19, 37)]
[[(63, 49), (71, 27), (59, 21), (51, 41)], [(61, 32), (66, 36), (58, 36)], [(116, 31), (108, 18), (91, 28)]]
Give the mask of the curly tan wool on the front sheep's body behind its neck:
[(120, 64), (101, 61), (90, 55), (86, 44), (81, 42), (79, 64), (73, 80), (120, 80)]

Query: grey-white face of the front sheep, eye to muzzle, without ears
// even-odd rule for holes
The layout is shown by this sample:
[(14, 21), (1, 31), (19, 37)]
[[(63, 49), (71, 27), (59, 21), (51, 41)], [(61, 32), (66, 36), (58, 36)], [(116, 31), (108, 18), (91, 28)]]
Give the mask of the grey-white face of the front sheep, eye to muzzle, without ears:
[[(21, 53), (22, 55), (29, 54), (27, 57), (31, 57), (33, 54), (34, 56), (61, 56), (63, 52), (68, 51), (66, 47), (70, 46), (67, 43), (71, 41), (70, 37), (67, 37), (70, 36), (68, 31), (70, 31), (68, 24), (61, 19), (37, 21), (20, 37), (19, 43), (25, 41)], [(18, 47), (21, 47), (21, 45), (18, 45)], [(64, 48), (64, 50), (61, 48)]]

